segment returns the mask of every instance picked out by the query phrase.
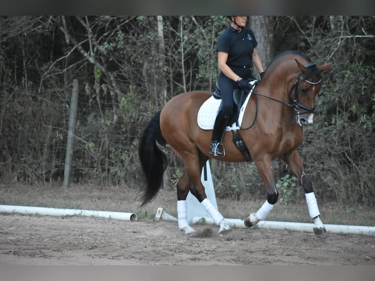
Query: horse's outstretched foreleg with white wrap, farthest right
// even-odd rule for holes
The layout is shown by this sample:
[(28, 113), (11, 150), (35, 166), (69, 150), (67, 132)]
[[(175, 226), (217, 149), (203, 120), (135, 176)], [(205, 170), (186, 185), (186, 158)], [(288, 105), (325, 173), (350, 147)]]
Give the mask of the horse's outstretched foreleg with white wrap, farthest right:
[(326, 228), (322, 220), (320, 219), (320, 212), (318, 208), (318, 203), (312, 188), (312, 183), (309, 178), (305, 175), (304, 165), (302, 163), (300, 154), (295, 150), (290, 155), (283, 158), (284, 162), (288, 164), (292, 173), (300, 180), (301, 186), (305, 191), (305, 198), (307, 203), (307, 208), (310, 217), (314, 221), (314, 233), (317, 236), (324, 236), (327, 234)]

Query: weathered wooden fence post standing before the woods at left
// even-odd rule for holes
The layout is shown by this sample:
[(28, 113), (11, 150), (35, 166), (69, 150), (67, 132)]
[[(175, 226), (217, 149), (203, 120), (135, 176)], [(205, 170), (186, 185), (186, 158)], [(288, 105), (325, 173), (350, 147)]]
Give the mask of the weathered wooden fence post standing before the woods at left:
[(64, 184), (63, 187), (69, 187), (70, 185), (70, 169), (71, 161), (73, 156), (73, 136), (75, 120), (77, 119), (77, 107), (78, 107), (78, 80), (73, 80), (73, 90), (71, 92), (70, 101), (70, 117), (69, 117), (69, 131), (67, 141), (67, 153), (65, 157), (65, 170), (64, 170)]

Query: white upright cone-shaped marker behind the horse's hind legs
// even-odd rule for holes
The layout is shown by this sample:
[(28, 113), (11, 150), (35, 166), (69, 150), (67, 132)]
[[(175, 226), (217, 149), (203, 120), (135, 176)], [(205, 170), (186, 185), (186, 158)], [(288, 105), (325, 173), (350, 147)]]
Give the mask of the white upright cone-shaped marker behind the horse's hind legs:
[[(205, 187), (207, 198), (211, 201), (213, 207), (215, 207), (216, 210), (218, 210), (215, 191), (213, 189), (211, 168), (210, 168), (209, 161), (207, 161), (206, 164), (203, 166), (202, 174), (201, 174), (201, 181), (202, 181), (203, 186)], [(191, 194), (190, 191), (188, 193), (188, 197), (186, 198), (186, 202), (188, 205), (188, 223), (189, 224), (193, 222), (193, 218), (196, 216), (210, 217), (207, 211), (203, 208), (202, 204), (199, 203), (198, 199), (195, 198), (195, 196)]]

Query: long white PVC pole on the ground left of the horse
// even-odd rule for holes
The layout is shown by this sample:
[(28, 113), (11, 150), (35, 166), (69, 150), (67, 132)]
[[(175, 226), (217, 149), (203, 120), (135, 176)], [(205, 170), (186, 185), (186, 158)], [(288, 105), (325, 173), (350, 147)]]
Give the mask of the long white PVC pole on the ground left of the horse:
[(119, 220), (136, 221), (137, 214), (130, 212), (113, 212), (113, 211), (91, 211), (91, 210), (76, 210), (76, 209), (55, 209), (44, 207), (27, 207), (27, 206), (12, 206), (0, 205), (0, 213), (21, 213), (21, 214), (40, 214), (51, 216), (64, 216), (64, 215), (79, 215), (79, 216), (92, 216), (103, 217)]

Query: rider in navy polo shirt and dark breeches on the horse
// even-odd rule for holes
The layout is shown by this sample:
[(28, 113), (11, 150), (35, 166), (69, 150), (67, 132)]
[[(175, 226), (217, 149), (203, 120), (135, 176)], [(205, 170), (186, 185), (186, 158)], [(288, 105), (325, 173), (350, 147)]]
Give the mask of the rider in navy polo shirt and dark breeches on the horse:
[(253, 31), (245, 27), (247, 16), (228, 16), (228, 18), (231, 24), (220, 35), (216, 46), (220, 69), (218, 84), (223, 105), (213, 126), (210, 154), (217, 157), (224, 157), (219, 144), (233, 112), (233, 91), (238, 88), (251, 90), (248, 79), (256, 80), (251, 73), (253, 63), (260, 73), (260, 78), (264, 75), (256, 48), (258, 42)]

